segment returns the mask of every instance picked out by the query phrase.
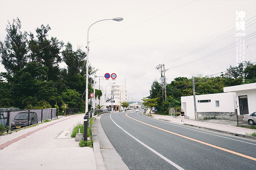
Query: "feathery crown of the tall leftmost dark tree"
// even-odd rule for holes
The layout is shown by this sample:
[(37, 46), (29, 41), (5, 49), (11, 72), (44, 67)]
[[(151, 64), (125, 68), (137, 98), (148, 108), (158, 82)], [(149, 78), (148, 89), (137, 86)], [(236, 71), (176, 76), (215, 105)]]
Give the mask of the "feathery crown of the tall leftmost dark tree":
[(22, 33), (20, 29), (19, 18), (13, 19), (12, 24), (8, 21), (5, 29), (7, 36), (4, 42), (0, 41), (1, 63), (11, 75), (25, 67), (28, 60), (27, 33)]

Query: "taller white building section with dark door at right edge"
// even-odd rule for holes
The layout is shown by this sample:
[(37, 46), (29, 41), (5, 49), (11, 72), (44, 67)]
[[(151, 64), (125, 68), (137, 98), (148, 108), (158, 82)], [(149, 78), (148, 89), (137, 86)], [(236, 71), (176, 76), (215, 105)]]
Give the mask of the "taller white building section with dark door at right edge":
[(224, 87), (223, 91), (236, 93), (236, 108), (239, 115), (256, 112), (256, 83)]

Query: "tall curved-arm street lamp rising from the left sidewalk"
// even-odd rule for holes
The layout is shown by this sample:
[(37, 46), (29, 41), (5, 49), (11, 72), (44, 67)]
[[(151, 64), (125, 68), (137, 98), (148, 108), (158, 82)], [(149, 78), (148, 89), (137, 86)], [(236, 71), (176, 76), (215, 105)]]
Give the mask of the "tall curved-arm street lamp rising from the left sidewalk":
[[(117, 17), (117, 18), (113, 18), (113, 19), (102, 19), (100, 21), (105, 21), (105, 20), (113, 20), (113, 21), (123, 21), (123, 18), (122, 17)], [(97, 21), (97, 22), (100, 22), (100, 21)], [(97, 23), (95, 22), (95, 23)], [(93, 23), (93, 24), (95, 24)], [(86, 53), (86, 93), (85, 93), (85, 113), (88, 112), (88, 74), (89, 74), (89, 30), (91, 28), (91, 26), (93, 25), (91, 24), (90, 27), (88, 28), (87, 30), (87, 46), (86, 46), (86, 49), (87, 49), (87, 53)]]

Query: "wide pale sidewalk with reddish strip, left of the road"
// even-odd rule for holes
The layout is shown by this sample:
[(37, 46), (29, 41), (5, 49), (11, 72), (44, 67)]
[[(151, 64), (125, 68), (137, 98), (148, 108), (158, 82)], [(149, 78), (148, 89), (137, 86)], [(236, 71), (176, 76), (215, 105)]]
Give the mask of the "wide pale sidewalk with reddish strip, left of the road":
[(96, 170), (93, 148), (79, 147), (70, 137), (84, 114), (59, 118), (0, 136), (0, 169)]

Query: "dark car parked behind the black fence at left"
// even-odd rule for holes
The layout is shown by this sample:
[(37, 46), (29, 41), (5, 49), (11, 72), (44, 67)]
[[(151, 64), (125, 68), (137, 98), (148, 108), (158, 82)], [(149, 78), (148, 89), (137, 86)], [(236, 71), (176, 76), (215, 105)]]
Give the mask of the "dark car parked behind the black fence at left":
[(30, 112), (30, 117), (28, 120), (28, 112), (21, 112), (16, 115), (12, 122), (12, 127), (21, 128), (21, 126), (32, 125), (38, 123), (37, 113)]

